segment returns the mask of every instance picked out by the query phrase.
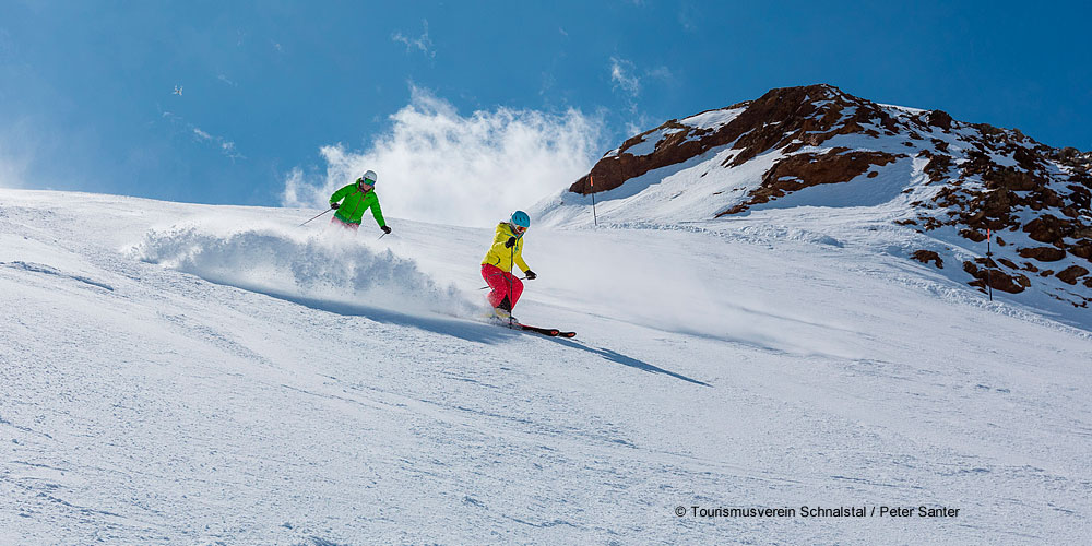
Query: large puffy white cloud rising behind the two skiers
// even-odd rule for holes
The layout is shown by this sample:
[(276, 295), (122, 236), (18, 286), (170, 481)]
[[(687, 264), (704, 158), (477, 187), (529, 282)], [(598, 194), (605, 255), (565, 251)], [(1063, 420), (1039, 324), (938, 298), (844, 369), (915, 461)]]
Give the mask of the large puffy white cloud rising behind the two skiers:
[(390, 119), (390, 131), (366, 151), (323, 146), (324, 175), (294, 169), (282, 204), (325, 206), (334, 190), (373, 169), (376, 191), (391, 217), (488, 226), (572, 183), (587, 173), (603, 145), (602, 119), (575, 109), (547, 114), (497, 107), (463, 116), (417, 87)]

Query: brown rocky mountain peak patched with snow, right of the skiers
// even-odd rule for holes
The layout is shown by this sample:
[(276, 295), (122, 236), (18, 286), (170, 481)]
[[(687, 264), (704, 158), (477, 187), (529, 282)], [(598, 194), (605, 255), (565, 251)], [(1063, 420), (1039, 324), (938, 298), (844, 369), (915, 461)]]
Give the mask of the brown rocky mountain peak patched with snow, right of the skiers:
[[(901, 177), (905, 205), (892, 222), (922, 234), (952, 232), (965, 245), (983, 242), (987, 233), (998, 236), (993, 256), (957, 260), (971, 285), (988, 282), (1020, 294), (1037, 283), (1075, 306), (1092, 301), (1090, 152), (818, 84), (774, 88), (669, 120), (605, 154), (568, 191), (612, 192), (640, 179), (644, 186), (622, 192), (629, 194), (654, 183), (657, 174), (698, 168), (691, 165), (701, 166), (700, 177), (720, 170), (734, 183), (744, 180), (732, 188), (743, 193), (721, 188), (702, 197), (702, 203), (721, 203), (710, 217), (731, 217), (811, 187)], [(919, 250), (912, 257), (938, 268), (956, 258)]]

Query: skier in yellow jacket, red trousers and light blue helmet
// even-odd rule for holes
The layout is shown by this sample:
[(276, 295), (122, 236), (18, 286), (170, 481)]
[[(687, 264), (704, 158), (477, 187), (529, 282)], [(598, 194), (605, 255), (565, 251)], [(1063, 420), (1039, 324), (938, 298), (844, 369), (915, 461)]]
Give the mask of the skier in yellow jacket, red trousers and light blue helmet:
[[(512, 263), (523, 270), (527, 281), (534, 281), (534, 271), (523, 261), (523, 234), (531, 227), (531, 217), (515, 211), (508, 222), (497, 224), (492, 246), (482, 260), (482, 277), (489, 284), (489, 305), (501, 319), (512, 319), (512, 308), (523, 294), (523, 283), (512, 274)], [(513, 319), (514, 320), (514, 319)]]

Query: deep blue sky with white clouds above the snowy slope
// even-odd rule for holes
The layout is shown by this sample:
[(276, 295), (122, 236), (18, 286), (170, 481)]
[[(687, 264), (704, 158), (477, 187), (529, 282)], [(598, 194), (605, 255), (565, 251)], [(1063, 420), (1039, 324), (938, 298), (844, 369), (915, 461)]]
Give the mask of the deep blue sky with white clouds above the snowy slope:
[[(324, 191), (372, 162), (391, 183), (427, 165), (414, 176), (428, 188), (538, 176), (541, 193), (633, 131), (810, 83), (1090, 150), (1090, 15), (1079, 2), (0, 0), (0, 186), (307, 204), (286, 198), (293, 180)], [(420, 145), (437, 124), (459, 136)], [(513, 134), (557, 142), (501, 150)]]

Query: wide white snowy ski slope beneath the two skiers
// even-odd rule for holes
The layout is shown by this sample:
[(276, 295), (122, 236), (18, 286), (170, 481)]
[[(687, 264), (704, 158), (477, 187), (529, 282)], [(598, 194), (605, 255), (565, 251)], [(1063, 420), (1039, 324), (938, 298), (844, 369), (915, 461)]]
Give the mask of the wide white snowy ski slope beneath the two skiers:
[(533, 228), (517, 314), (555, 340), (473, 318), (490, 230), (318, 212), (0, 190), (0, 544), (1092, 534), (1087, 323), (867, 229)]

